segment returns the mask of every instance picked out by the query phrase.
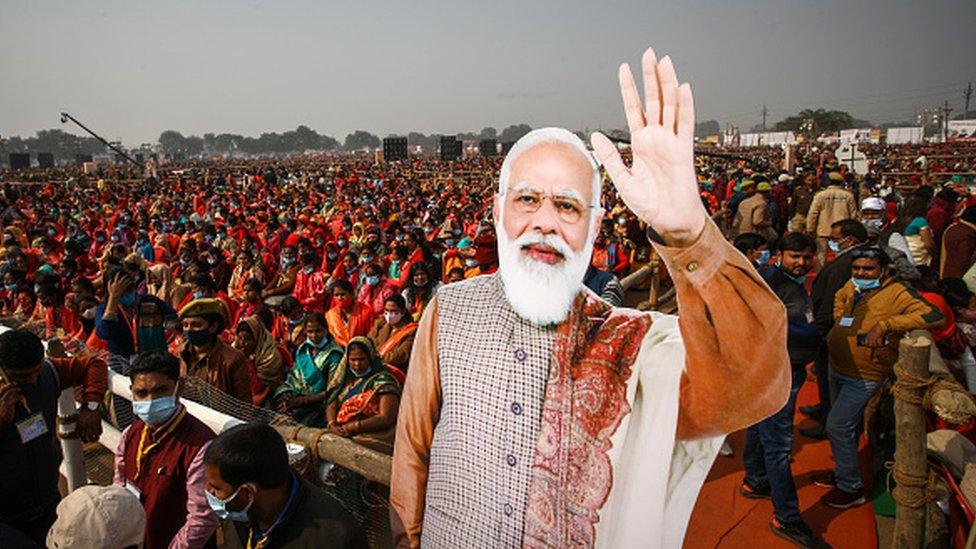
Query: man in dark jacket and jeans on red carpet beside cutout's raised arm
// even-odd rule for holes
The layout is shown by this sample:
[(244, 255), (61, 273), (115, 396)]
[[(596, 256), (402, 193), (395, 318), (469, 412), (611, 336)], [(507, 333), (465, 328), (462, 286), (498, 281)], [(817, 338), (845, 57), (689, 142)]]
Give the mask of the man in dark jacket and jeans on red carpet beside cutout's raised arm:
[(800, 517), (800, 502), (790, 470), (796, 395), (806, 381), (806, 365), (817, 355), (820, 335), (804, 283), (813, 268), (816, 243), (802, 233), (787, 233), (777, 244), (775, 265), (760, 269), (773, 293), (786, 305), (786, 346), (793, 370), (790, 398), (772, 416), (746, 430), (742, 461), (746, 475), (739, 487), (744, 497), (773, 500), (773, 533), (802, 547), (825, 547)]

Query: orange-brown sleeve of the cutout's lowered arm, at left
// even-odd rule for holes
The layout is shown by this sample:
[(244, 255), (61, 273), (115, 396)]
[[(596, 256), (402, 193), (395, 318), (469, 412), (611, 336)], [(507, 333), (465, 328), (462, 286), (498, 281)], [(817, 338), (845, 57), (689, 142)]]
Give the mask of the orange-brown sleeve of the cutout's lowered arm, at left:
[(398, 547), (420, 546), (430, 446), (441, 409), (437, 303), (434, 297), (420, 319), (400, 397), (390, 484), (390, 522)]

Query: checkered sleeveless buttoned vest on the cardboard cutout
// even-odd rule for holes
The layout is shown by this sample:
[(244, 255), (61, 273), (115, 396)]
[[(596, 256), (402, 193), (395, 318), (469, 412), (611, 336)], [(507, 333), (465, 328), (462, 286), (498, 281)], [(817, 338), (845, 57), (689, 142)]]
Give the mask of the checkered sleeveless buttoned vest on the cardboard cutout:
[(520, 547), (555, 330), (521, 319), (497, 275), (438, 292), (442, 406), (423, 547)]

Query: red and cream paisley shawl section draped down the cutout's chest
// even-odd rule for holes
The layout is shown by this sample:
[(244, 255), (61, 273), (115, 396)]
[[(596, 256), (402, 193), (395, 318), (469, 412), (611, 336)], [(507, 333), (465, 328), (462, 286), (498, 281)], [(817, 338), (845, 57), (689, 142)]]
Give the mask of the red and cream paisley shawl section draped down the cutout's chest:
[(576, 298), (556, 330), (525, 512), (525, 547), (592, 547), (613, 486), (610, 438), (651, 317)]

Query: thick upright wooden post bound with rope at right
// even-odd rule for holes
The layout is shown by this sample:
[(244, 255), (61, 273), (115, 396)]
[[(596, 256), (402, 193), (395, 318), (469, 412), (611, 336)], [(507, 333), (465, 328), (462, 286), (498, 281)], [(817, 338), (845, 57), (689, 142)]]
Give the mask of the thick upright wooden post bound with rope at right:
[[(928, 362), (931, 341), (925, 337), (906, 337), (898, 343), (895, 366), (895, 468), (915, 479), (926, 478), (925, 412), (921, 398), (925, 387), (919, 381), (929, 378)], [(899, 396), (904, 392), (904, 396)], [(908, 398), (904, 398), (908, 397)], [(899, 483), (895, 488), (895, 533), (892, 547), (922, 547), (925, 531), (925, 487), (917, 483)], [(905, 502), (922, 502), (914, 506)]]

